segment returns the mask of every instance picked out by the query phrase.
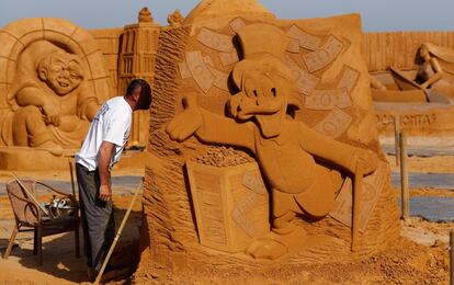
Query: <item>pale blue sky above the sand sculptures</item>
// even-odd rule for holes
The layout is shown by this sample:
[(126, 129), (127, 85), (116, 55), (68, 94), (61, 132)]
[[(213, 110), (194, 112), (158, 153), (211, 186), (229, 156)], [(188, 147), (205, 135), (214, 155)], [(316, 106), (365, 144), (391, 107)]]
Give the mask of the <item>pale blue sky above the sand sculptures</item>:
[[(30, 16), (66, 18), (86, 29), (136, 22), (147, 5), (161, 24), (174, 9), (185, 15), (198, 0), (0, 0), (0, 26)], [(454, 31), (453, 0), (261, 0), (282, 19), (360, 12), (365, 31)]]

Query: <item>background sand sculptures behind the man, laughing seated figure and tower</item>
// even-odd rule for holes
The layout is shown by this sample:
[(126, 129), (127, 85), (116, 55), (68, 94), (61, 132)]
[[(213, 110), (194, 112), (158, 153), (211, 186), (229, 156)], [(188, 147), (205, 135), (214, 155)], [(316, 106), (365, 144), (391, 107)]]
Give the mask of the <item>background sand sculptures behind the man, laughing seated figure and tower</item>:
[[(80, 147), (99, 106), (134, 78), (154, 81), (161, 27), (148, 8), (137, 20), (84, 31), (63, 19), (38, 18), (0, 30), (0, 169), (66, 170), (64, 156)], [(128, 146), (147, 144), (148, 122), (148, 112), (135, 113)], [(144, 167), (144, 156), (122, 163)]]

